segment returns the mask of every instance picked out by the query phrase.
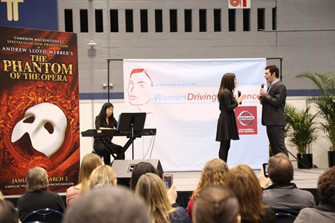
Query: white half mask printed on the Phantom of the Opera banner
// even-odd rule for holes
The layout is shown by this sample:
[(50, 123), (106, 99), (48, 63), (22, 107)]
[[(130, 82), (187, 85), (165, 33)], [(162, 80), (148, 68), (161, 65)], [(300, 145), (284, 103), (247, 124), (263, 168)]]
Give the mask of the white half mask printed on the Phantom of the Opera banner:
[(12, 142), (21, 139), (27, 132), (31, 145), (47, 157), (56, 153), (64, 142), (67, 121), (64, 112), (51, 103), (31, 107), (19, 121), (12, 134)]

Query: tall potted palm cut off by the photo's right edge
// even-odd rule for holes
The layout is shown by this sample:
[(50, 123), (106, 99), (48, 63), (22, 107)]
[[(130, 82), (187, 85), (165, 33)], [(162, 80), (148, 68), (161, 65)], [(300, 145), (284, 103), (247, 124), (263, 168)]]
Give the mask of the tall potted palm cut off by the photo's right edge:
[(297, 77), (310, 79), (320, 90), (320, 95), (315, 95), (310, 100), (318, 107), (318, 115), (322, 118), (321, 128), (331, 144), (328, 151), (328, 164), (329, 167), (332, 167), (335, 165), (335, 73), (311, 74), (304, 72)]

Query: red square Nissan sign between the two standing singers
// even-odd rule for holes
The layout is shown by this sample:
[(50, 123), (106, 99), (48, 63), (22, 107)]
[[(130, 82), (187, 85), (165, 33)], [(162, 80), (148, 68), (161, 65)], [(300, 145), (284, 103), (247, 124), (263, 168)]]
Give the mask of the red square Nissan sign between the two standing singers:
[(258, 134), (256, 106), (239, 106), (234, 112), (239, 134)]

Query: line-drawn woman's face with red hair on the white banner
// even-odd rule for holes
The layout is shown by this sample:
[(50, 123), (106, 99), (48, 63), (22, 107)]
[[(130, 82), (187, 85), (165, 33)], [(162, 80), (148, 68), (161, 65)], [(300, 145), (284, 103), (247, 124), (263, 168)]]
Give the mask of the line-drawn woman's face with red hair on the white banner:
[(144, 69), (133, 69), (129, 78), (128, 95), (131, 105), (145, 105), (151, 100), (151, 78)]

